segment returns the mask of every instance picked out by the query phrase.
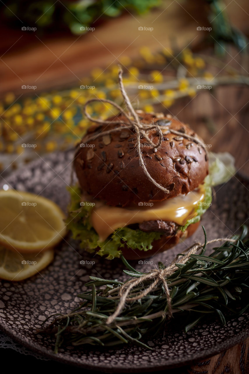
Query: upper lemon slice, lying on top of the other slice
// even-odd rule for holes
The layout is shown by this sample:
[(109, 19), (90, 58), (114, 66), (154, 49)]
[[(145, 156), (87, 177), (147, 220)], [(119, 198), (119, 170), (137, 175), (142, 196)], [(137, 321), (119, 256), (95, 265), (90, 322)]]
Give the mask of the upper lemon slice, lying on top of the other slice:
[(0, 191), (0, 244), (19, 252), (52, 248), (64, 237), (64, 213), (42, 196), (15, 190)]

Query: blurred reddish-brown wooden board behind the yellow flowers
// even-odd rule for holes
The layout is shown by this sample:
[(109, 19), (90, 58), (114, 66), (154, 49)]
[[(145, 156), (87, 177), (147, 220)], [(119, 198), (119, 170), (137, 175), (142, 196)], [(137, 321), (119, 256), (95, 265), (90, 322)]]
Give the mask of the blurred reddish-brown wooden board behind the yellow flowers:
[[(246, 30), (249, 8), (246, 0), (239, 1), (239, 5), (227, 0), (227, 4), (233, 22)], [(42, 36), (40, 30), (30, 34), (3, 28), (0, 97), (10, 91), (23, 94), (22, 85), (37, 86), (39, 93), (78, 83), (93, 67), (106, 67), (124, 55), (134, 57), (141, 46), (156, 51), (170, 47), (172, 42), (180, 50), (189, 43), (197, 44), (203, 37), (197, 27), (207, 26), (204, 5), (204, 1), (195, 0), (163, 1), (160, 9), (145, 16), (126, 13), (96, 26), (84, 36), (60, 32)], [(139, 31), (139, 27), (153, 27), (153, 32)]]

